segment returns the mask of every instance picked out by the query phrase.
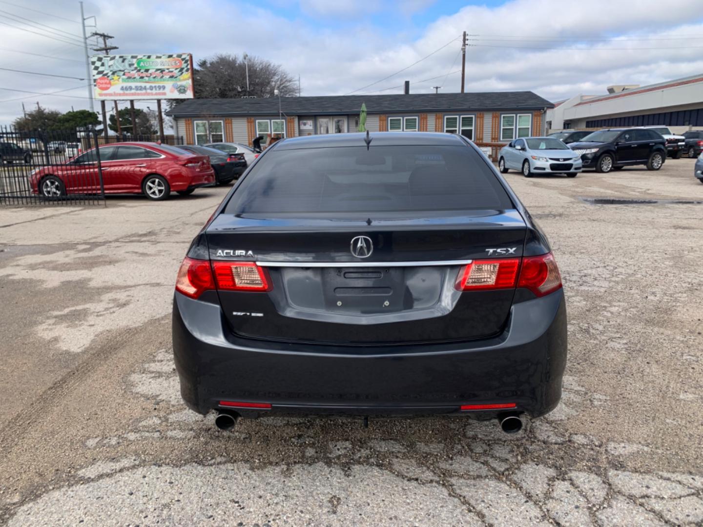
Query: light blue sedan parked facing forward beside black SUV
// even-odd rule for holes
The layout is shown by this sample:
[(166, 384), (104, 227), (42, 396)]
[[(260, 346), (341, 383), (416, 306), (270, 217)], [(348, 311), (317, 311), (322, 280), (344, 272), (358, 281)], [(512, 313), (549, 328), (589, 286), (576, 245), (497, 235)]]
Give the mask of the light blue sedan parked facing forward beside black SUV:
[(576, 177), (581, 157), (555, 137), (524, 137), (511, 141), (498, 152), (498, 168), (520, 170), (526, 178), (534, 174), (566, 174)]

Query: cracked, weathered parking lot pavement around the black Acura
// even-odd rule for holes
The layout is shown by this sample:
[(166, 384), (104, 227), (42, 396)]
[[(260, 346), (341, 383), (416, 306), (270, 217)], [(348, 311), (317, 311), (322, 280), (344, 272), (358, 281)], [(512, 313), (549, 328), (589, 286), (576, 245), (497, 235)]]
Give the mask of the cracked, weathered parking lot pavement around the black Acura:
[(703, 200), (694, 160), (510, 185), (565, 282), (562, 403), (464, 419), (244, 421), (181, 403), (176, 271), (227, 188), (0, 209), (0, 523), (703, 523)]

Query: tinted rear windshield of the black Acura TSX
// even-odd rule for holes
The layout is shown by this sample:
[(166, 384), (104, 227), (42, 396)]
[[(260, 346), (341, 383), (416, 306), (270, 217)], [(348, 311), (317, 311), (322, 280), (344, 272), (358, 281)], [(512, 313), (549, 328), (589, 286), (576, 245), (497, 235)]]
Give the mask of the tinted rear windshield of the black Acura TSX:
[(254, 164), (225, 213), (512, 208), (494, 172), (471, 148), (372, 145), (273, 150)]

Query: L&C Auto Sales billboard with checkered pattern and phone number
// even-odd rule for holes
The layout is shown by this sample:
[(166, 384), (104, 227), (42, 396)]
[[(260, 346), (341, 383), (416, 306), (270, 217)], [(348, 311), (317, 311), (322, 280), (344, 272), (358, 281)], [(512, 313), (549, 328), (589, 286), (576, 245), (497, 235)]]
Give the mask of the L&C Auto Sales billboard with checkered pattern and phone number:
[(192, 99), (193, 56), (93, 55), (96, 99)]

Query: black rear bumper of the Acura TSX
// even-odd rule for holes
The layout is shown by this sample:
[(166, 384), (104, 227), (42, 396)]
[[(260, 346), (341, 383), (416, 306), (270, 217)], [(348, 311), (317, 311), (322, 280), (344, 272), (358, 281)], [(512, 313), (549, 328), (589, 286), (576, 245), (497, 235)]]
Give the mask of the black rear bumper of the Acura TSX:
[[(363, 326), (360, 327), (363, 330)], [(463, 343), (320, 346), (241, 339), (217, 304), (176, 292), (173, 349), (181, 395), (205, 414), (220, 401), (273, 414), (423, 415), (487, 418), (463, 404), (515, 403), (533, 417), (556, 407), (567, 357), (562, 289), (515, 304), (498, 337)]]

